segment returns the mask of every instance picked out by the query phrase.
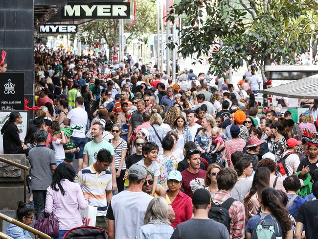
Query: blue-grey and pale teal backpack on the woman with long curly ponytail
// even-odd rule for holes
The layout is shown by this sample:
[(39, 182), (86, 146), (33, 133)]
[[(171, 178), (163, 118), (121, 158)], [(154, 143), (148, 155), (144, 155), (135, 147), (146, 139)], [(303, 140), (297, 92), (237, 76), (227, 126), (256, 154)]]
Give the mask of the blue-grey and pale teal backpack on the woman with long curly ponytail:
[[(256, 223), (252, 232), (251, 239), (278, 239), (282, 237), (282, 232), (279, 230), (276, 218), (270, 214), (259, 214), (260, 220)], [(266, 216), (270, 216), (266, 217)], [(265, 218), (266, 217), (266, 218)]]

